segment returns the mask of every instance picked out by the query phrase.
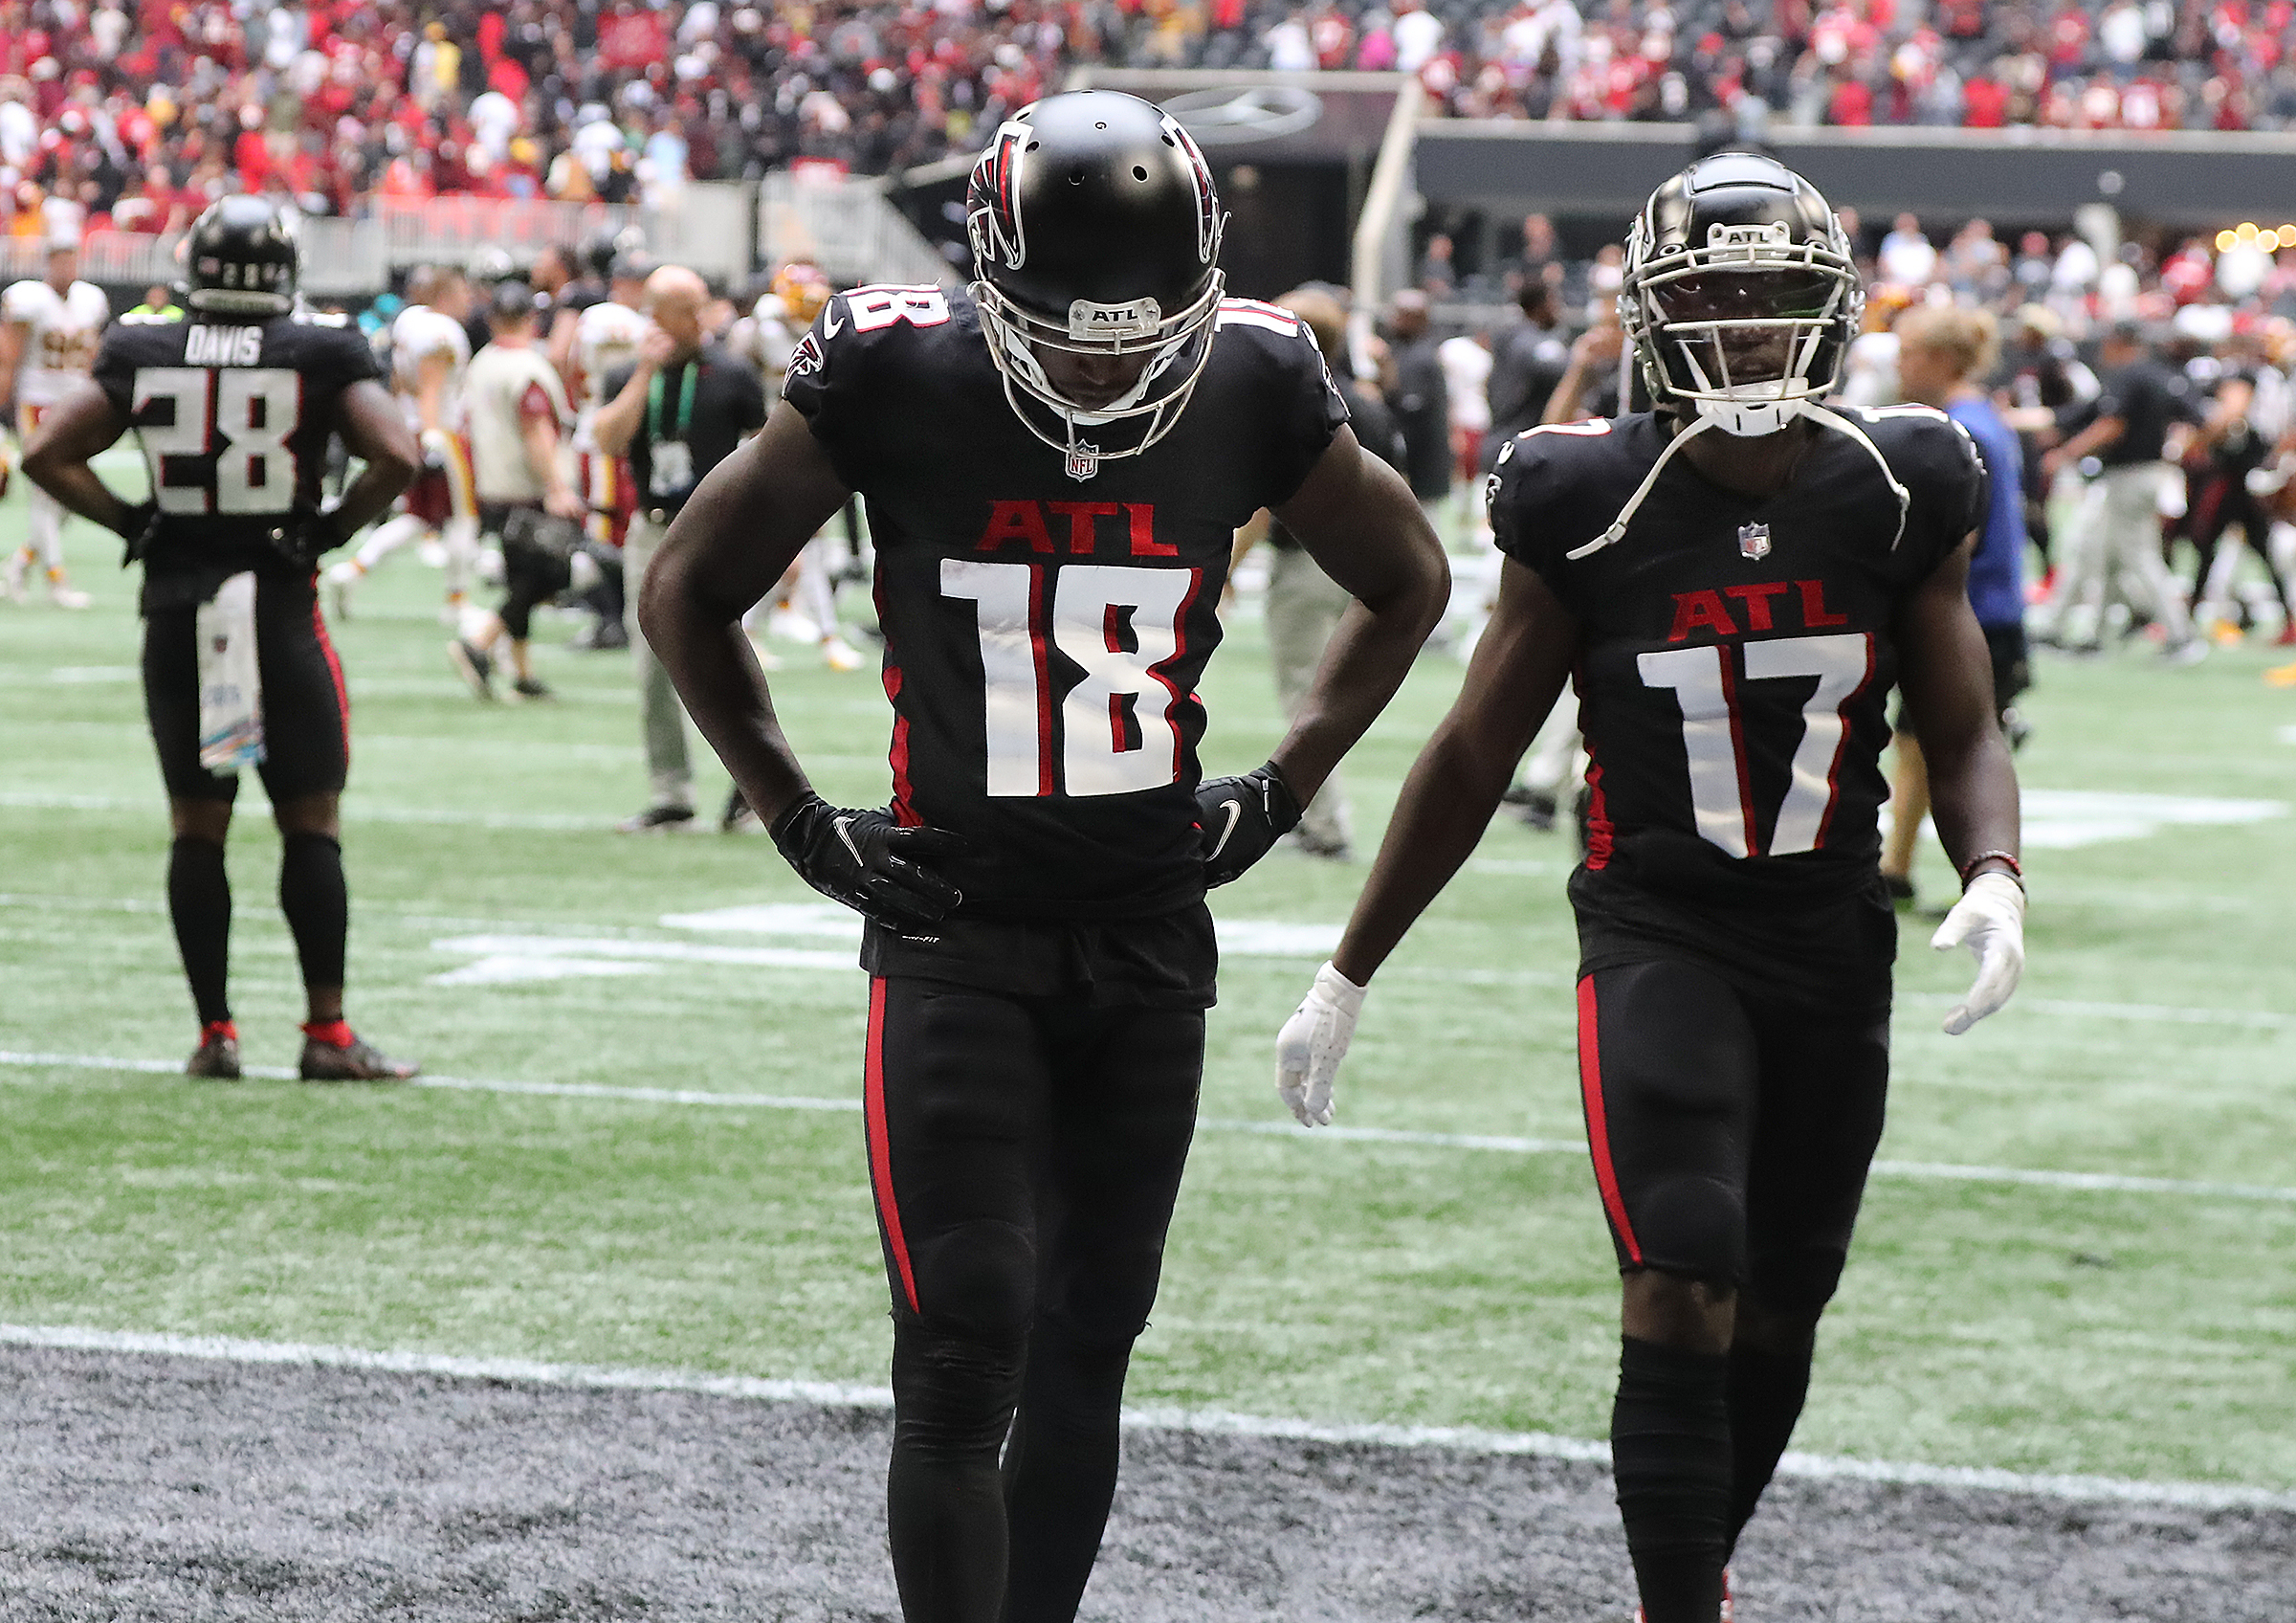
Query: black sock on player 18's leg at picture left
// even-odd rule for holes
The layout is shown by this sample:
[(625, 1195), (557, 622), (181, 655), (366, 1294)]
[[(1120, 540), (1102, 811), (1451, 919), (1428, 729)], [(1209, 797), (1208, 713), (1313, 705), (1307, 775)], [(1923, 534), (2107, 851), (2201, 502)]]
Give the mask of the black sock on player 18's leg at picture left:
[(1022, 1345), (893, 1322), (893, 1467), (886, 1533), (907, 1623), (996, 1623), (1006, 1508), (996, 1451), (1019, 1400)]

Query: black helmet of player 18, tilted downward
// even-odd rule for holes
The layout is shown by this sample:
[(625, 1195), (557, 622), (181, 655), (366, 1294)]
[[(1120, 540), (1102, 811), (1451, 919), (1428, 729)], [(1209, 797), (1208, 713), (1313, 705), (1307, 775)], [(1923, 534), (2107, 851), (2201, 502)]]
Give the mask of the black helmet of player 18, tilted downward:
[[(980, 154), (964, 216), (980, 328), (1029, 432), (1077, 480), (1169, 434), (1226, 292), (1226, 216), (1187, 131), (1114, 90), (1047, 96)], [(1116, 399), (1086, 402), (1047, 374), (1047, 351), (1148, 363)]]

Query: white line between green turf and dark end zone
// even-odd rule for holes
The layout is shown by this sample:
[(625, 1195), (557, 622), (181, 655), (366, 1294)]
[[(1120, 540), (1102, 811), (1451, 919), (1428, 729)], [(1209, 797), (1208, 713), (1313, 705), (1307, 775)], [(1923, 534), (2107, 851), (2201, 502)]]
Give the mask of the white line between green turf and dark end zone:
[[(448, 1352), (374, 1352), (292, 1341), (246, 1341), (239, 1336), (168, 1336), (80, 1325), (0, 1325), (0, 1345), (51, 1348), (60, 1352), (115, 1352), (131, 1357), (214, 1359), (223, 1364), (269, 1364), (301, 1368), (372, 1370), (381, 1375), (436, 1375), (443, 1380), (491, 1380), (521, 1387), (567, 1387), (585, 1391), (691, 1391), (748, 1403), (810, 1403), (831, 1410), (889, 1410), (884, 1387), (852, 1387), (815, 1380), (760, 1380), (753, 1375), (705, 1375), (700, 1370), (643, 1370), (595, 1364), (544, 1364), (535, 1359), (471, 1359)], [(1290, 1416), (1233, 1414), (1228, 1410), (1141, 1407), (1125, 1410), (1123, 1423), (1139, 1432), (1194, 1432), (1208, 1437), (1267, 1437), (1283, 1442), (1368, 1444), (1384, 1449), (1442, 1449), (1449, 1453), (1529, 1455), (1609, 1465), (1609, 1444), (1552, 1432), (1502, 1432), (1474, 1426), (1325, 1423)], [(2239, 1483), (2147, 1483), (2126, 1476), (2025, 1474), (1972, 1465), (1919, 1465), (1789, 1453), (1779, 1476), (1807, 1481), (1892, 1483), (2023, 1494), (2037, 1499), (2082, 1499), (2108, 1504), (2158, 1504), (2200, 1511), (2296, 1513), (2296, 1492)]]

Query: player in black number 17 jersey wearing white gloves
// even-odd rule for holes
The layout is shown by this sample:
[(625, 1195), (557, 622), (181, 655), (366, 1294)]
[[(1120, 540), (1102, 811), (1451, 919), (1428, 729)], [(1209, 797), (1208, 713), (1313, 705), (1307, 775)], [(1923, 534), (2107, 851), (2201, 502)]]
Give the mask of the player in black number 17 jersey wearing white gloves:
[(1658, 409), (1502, 450), (1497, 613), (1277, 1042), (1286, 1102), (1327, 1123), (1364, 987), (1575, 680), (1580, 1084), (1626, 1286), (1612, 1455), (1649, 1623), (1722, 1612), (1880, 1139), (1892, 682), (1963, 879), (1936, 946), (1979, 957), (1945, 1028), (2023, 966), (2016, 778), (1965, 592), (1984, 473), (1940, 411), (1821, 404), (1860, 303), (1839, 223), (1779, 163), (1722, 154), (1651, 195), (1619, 310)]

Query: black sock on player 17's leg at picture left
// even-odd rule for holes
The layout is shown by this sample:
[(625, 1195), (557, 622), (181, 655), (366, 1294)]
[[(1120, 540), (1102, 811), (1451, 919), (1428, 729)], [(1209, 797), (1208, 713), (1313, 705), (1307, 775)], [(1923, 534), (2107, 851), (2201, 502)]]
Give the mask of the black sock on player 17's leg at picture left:
[(1619, 1517), (1649, 1623), (1722, 1609), (1731, 1451), (1729, 1359), (1626, 1336), (1609, 1421)]

